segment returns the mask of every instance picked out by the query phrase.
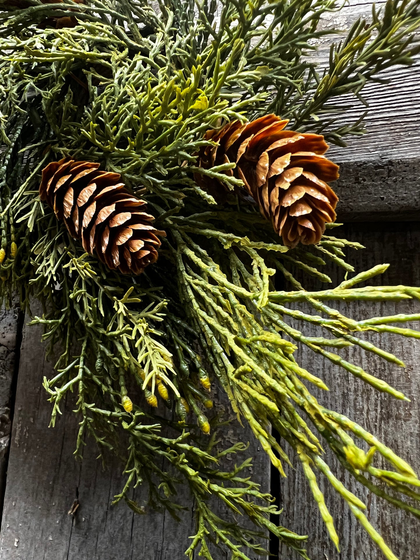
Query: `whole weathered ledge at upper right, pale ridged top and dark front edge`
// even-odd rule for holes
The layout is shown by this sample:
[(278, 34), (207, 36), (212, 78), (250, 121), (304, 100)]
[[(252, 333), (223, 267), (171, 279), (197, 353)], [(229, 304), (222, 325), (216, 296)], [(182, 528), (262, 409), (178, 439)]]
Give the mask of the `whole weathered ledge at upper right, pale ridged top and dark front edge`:
[[(383, 9), (385, 2), (375, 4)], [(372, 2), (349, 0), (339, 12), (323, 16), (322, 27), (338, 32), (314, 41), (320, 66), (328, 61), (330, 45), (358, 17), (371, 21), (371, 11)], [(381, 77), (390, 83), (367, 83), (363, 88), (368, 108), (354, 103), (351, 95), (334, 100), (346, 107), (340, 122), (354, 122), (368, 111), (367, 133), (346, 138), (346, 148), (332, 146), (328, 151), (328, 157), (341, 164), (334, 186), (340, 198), (339, 221), (420, 219), (420, 63), (390, 68)], [(349, 103), (353, 108), (348, 108)]]

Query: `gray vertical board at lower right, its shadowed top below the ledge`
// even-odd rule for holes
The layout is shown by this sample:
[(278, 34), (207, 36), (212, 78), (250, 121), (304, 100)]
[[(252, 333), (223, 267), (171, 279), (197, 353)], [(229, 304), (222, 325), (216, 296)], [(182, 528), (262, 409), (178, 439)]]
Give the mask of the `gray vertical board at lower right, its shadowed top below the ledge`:
[[(420, 224), (419, 223), (388, 223), (372, 225), (351, 225), (338, 228), (335, 234), (367, 245), (367, 250), (352, 253), (351, 261), (356, 272), (361, 272), (374, 264), (390, 263), (389, 272), (379, 280), (385, 285), (408, 284), (420, 285)], [(339, 232), (343, 229), (343, 232)], [(342, 279), (333, 277), (333, 282)], [(375, 283), (374, 279), (370, 283)], [(322, 286), (322, 284), (320, 284)], [(325, 284), (324, 284), (325, 286)], [(315, 288), (319, 288), (314, 286)], [(331, 306), (333, 305), (330, 302)], [(301, 309), (304, 309), (301, 306)], [(339, 304), (336, 309), (343, 314), (365, 319), (374, 316), (391, 315), (397, 312), (412, 313), (420, 311), (416, 301), (382, 303), (352, 302)], [(312, 311), (312, 314), (314, 312)], [(301, 322), (294, 326), (308, 335), (319, 335), (318, 329), (305, 327)], [(413, 323), (413, 328), (419, 328)], [(321, 390), (311, 392), (326, 407), (346, 414), (361, 424), (371, 433), (379, 436), (381, 441), (395, 450), (407, 460), (420, 474), (420, 340), (398, 337), (388, 333), (369, 333), (365, 336), (377, 346), (395, 353), (405, 361), (406, 368), (380, 360), (375, 354), (361, 351), (358, 347), (347, 351), (339, 351), (340, 355), (353, 358), (354, 363), (361, 365), (365, 371), (384, 379), (390, 385), (402, 390), (410, 399), (410, 403), (395, 400), (389, 395), (379, 394), (361, 380), (354, 378), (345, 370), (338, 369), (328, 360), (315, 356), (308, 349), (299, 352), (298, 361), (307, 370), (318, 375), (329, 386), (326, 393)], [(366, 448), (367, 449), (367, 448)], [(354, 484), (349, 476), (343, 473), (340, 465), (326, 454), (334, 465), (333, 472), (339, 473), (343, 483), (350, 484), (356, 496), (367, 504), (367, 517), (376, 529), (391, 545), (396, 555), (402, 560), (420, 560), (420, 526), (414, 517), (396, 510), (388, 503), (368, 493), (358, 483)], [(297, 464), (296, 458), (293, 464)], [(306, 480), (300, 468), (287, 470), (287, 479), (281, 481), (281, 498), (284, 513), (282, 522), (299, 533), (309, 532), (309, 556), (311, 560), (382, 560), (384, 557), (367, 537), (360, 525), (352, 517), (347, 505), (319, 476), (320, 488), (325, 491), (326, 504), (337, 521), (337, 529), (341, 540), (342, 554), (338, 554), (330, 542), (318, 508), (312, 499)], [(297, 556), (286, 553), (284, 558), (296, 560)]]

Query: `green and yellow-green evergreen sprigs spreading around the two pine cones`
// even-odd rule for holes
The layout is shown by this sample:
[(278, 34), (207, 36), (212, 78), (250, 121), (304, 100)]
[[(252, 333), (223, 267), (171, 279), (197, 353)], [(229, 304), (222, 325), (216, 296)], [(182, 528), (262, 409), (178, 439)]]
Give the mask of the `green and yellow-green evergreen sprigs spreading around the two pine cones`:
[[(249, 461), (226, 472), (220, 466), (223, 456), (245, 446), (217, 445), (219, 418), (208, 412), (207, 390), (218, 384), (282, 475), (290, 460), (281, 442), (296, 450), (337, 548), (317, 477), (332, 484), (385, 557), (395, 559), (368, 522), (366, 505), (325, 463), (322, 445), (371, 492), (417, 517), (420, 482), (374, 435), (317, 402), (311, 384), (326, 386), (293, 353), (305, 345), (379, 391), (405, 399), (339, 350), (357, 345), (403, 366), (358, 334), (420, 338), (393, 325), (420, 316), (357, 321), (327, 302), (419, 298), (420, 288), (356, 287), (384, 272), (381, 265), (351, 279), (346, 275), (335, 288), (306, 291), (293, 270), (330, 282), (322, 272), (325, 261), (351, 273), (344, 250), (361, 246), (325, 235), (311, 249), (288, 249), (235, 194), (241, 181), (223, 173), (235, 164), (203, 170), (195, 154), (209, 143), (203, 140), (209, 128), (270, 112), (290, 119), (294, 130), (323, 133), (339, 145), (345, 136), (361, 134), (362, 121), (342, 124), (336, 98), (352, 94), (355, 103), (364, 102), (360, 92), (367, 82), (381, 81), (381, 71), (394, 64), (412, 62), (419, 50), (420, 1), (374, 7), (371, 22), (357, 21), (332, 45), (325, 69), (308, 53), (314, 39), (331, 32), (319, 28), (324, 13), (340, 9), (333, 0), (2, 4), (0, 289), (6, 304), (17, 292), (23, 309), (34, 298), (44, 306), (32, 324), (44, 326), (50, 352), (60, 353), (57, 375), (44, 379), (52, 424), (64, 396), (75, 391), (76, 454), (90, 435), (99, 447), (125, 455), (127, 484), (115, 501), (125, 500), (134, 511), (141, 508), (130, 489), (146, 482), (150, 504), (177, 516), (176, 487), (187, 484), (197, 515), (190, 558), (195, 549), (217, 558), (216, 544), (247, 560), (246, 550), (264, 552), (258, 542), (267, 530), (307, 558), (304, 537), (269, 521), (276, 508), (243, 473)], [(75, 16), (75, 27), (55, 29), (57, 18)], [(118, 275), (83, 253), (41, 203), (41, 169), (68, 155), (122, 174), (147, 201), (156, 227), (166, 231), (158, 262), (141, 276)], [(195, 183), (194, 172), (224, 181), (232, 190), (228, 203), (217, 206)], [(276, 271), (292, 291), (276, 290)], [(306, 312), (297, 310), (298, 301), (306, 302)], [(301, 321), (302, 331), (289, 318)], [(310, 325), (319, 325), (325, 337), (306, 336)], [(172, 419), (158, 414), (157, 398), (174, 409)], [(389, 470), (375, 466), (379, 455)], [(161, 458), (170, 468), (158, 466)], [(244, 514), (255, 529), (222, 519), (212, 496)]]

